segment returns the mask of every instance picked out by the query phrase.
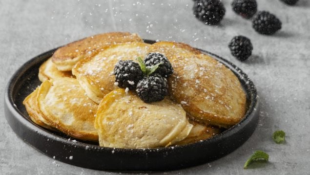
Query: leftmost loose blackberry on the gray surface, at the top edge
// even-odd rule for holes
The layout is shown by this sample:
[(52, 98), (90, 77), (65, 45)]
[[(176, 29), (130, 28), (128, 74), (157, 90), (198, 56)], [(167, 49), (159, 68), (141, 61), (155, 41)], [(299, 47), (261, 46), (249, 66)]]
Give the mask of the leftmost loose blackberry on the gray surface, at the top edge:
[(193, 11), (198, 20), (208, 25), (215, 25), (223, 19), (226, 10), (220, 0), (196, 0)]

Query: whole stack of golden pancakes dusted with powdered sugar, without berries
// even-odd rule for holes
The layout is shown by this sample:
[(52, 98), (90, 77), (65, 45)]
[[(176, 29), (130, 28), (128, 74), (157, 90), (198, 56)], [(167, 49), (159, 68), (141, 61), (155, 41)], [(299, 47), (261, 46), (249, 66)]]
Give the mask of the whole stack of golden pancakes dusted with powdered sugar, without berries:
[[(117, 87), (120, 60), (164, 54), (174, 68), (169, 95), (144, 103)], [(49, 130), (116, 148), (156, 148), (208, 139), (245, 115), (246, 95), (223, 64), (182, 43), (146, 44), (111, 32), (67, 44), (39, 69), (42, 84), (23, 102), (31, 120)]]

